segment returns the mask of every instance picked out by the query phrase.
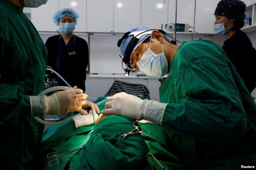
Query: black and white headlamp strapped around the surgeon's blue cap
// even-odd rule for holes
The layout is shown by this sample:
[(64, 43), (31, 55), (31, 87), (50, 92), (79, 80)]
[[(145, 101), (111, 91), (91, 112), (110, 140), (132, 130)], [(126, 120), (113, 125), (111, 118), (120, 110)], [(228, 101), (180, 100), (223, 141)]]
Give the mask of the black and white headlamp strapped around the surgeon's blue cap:
[(118, 40), (117, 47), (120, 47), (122, 41), (125, 38), (127, 38), (130, 35), (133, 35), (132, 39), (130, 40), (130, 42), (128, 43), (128, 45), (125, 49), (124, 56), (122, 56), (121, 54), (119, 55), (122, 58), (122, 62), (124, 62), (124, 64), (125, 64), (125, 68), (122, 68), (125, 71), (124, 76), (128, 77), (130, 72), (138, 72), (138, 70), (134, 69), (130, 63), (132, 51), (133, 51), (135, 45), (137, 44), (137, 42), (139, 41), (139, 38), (141, 38), (141, 36), (143, 36), (145, 34), (151, 34), (153, 30), (158, 30), (160, 33), (165, 34), (165, 31), (163, 31), (161, 29), (149, 29), (146, 31), (134, 31), (132, 33), (129, 31), (129, 32), (125, 33), (121, 39)]

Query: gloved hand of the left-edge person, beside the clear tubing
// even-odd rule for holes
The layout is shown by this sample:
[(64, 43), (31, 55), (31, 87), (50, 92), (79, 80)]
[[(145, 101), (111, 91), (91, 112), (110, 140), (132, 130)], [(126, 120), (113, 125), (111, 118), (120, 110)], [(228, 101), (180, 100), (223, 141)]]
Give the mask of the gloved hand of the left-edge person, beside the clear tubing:
[(62, 114), (82, 109), (87, 94), (81, 89), (56, 92), (50, 96), (29, 96), (32, 116)]

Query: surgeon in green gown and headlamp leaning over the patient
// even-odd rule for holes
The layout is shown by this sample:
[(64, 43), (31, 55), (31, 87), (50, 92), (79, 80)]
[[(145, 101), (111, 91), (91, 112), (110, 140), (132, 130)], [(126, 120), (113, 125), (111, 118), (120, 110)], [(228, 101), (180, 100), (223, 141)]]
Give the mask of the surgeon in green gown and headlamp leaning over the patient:
[(256, 104), (219, 45), (199, 39), (177, 47), (163, 31), (140, 26), (118, 46), (126, 71), (169, 75), (160, 86), (160, 102), (121, 92), (106, 98), (101, 114), (165, 127), (189, 169), (235, 170), (256, 163)]

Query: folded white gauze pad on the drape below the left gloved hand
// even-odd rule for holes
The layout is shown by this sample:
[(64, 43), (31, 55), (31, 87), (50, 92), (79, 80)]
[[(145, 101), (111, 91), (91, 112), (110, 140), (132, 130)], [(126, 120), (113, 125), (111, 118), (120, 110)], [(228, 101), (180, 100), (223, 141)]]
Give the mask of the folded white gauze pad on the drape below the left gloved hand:
[(90, 110), (88, 115), (77, 115), (74, 116), (72, 119), (74, 120), (76, 128), (79, 128), (95, 123), (98, 119), (98, 114), (96, 114), (95, 111)]

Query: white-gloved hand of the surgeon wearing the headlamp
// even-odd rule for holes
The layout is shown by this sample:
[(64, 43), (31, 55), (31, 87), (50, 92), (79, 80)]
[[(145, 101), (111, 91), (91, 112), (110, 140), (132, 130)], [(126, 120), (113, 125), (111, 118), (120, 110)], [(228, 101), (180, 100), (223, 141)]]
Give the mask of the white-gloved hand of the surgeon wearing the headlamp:
[(101, 114), (119, 114), (136, 120), (149, 120), (161, 125), (166, 103), (140, 99), (125, 92), (106, 98), (105, 110)]

